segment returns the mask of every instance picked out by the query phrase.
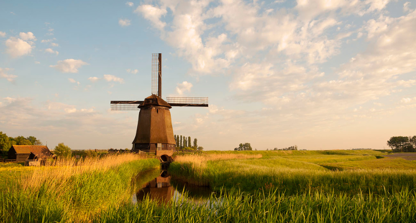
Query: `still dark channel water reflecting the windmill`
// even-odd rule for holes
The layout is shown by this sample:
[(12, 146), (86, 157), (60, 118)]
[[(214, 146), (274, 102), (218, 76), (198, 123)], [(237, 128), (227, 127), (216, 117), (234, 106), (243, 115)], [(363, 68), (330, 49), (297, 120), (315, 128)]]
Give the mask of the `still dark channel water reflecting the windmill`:
[(188, 198), (197, 203), (205, 203), (206, 198), (209, 198), (211, 195), (209, 187), (188, 185), (187, 183), (172, 180), (167, 171), (162, 171), (159, 176), (143, 185), (133, 195), (133, 203), (143, 201), (146, 197), (149, 197), (160, 204), (166, 204), (171, 199), (178, 200), (183, 191), (186, 191)]

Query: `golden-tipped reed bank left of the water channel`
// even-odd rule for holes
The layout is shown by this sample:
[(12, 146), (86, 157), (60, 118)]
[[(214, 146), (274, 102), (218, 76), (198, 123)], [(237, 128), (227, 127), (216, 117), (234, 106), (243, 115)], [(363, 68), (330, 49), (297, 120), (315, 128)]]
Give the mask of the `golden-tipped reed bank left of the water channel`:
[(128, 154), (31, 167), (0, 190), (0, 222), (89, 222), (108, 208), (131, 202), (132, 179), (156, 169), (150, 180), (159, 166), (156, 159)]

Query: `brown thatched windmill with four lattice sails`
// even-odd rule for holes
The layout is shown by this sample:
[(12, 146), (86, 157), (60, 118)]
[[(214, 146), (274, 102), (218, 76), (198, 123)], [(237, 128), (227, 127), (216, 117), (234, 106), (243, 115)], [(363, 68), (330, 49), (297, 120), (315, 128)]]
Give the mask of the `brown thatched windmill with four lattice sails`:
[(208, 107), (207, 97), (166, 97), (162, 99), (162, 54), (152, 54), (152, 95), (144, 101), (111, 101), (111, 110), (140, 110), (135, 151), (175, 149), (170, 109), (172, 107)]

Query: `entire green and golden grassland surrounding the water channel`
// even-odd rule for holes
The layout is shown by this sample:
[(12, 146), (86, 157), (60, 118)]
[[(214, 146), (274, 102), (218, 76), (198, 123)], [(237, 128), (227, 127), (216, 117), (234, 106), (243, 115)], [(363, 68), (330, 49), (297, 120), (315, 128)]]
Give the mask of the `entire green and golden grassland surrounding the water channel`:
[[(132, 204), (156, 159), (106, 156), (54, 167), (0, 166), (0, 222), (416, 222), (416, 162), (391, 151), (208, 151), (176, 156), (176, 180), (209, 186)], [(124, 157), (123, 156), (130, 156)], [(105, 160), (107, 159), (107, 160)]]

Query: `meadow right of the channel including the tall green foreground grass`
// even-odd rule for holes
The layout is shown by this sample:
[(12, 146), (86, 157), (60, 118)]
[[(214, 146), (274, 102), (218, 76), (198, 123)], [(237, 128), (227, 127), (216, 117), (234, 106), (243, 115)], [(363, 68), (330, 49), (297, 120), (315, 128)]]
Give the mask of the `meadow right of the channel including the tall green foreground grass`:
[(186, 193), (144, 200), (94, 222), (413, 223), (415, 167), (389, 151), (208, 151), (177, 156), (172, 177), (209, 186), (207, 202)]

